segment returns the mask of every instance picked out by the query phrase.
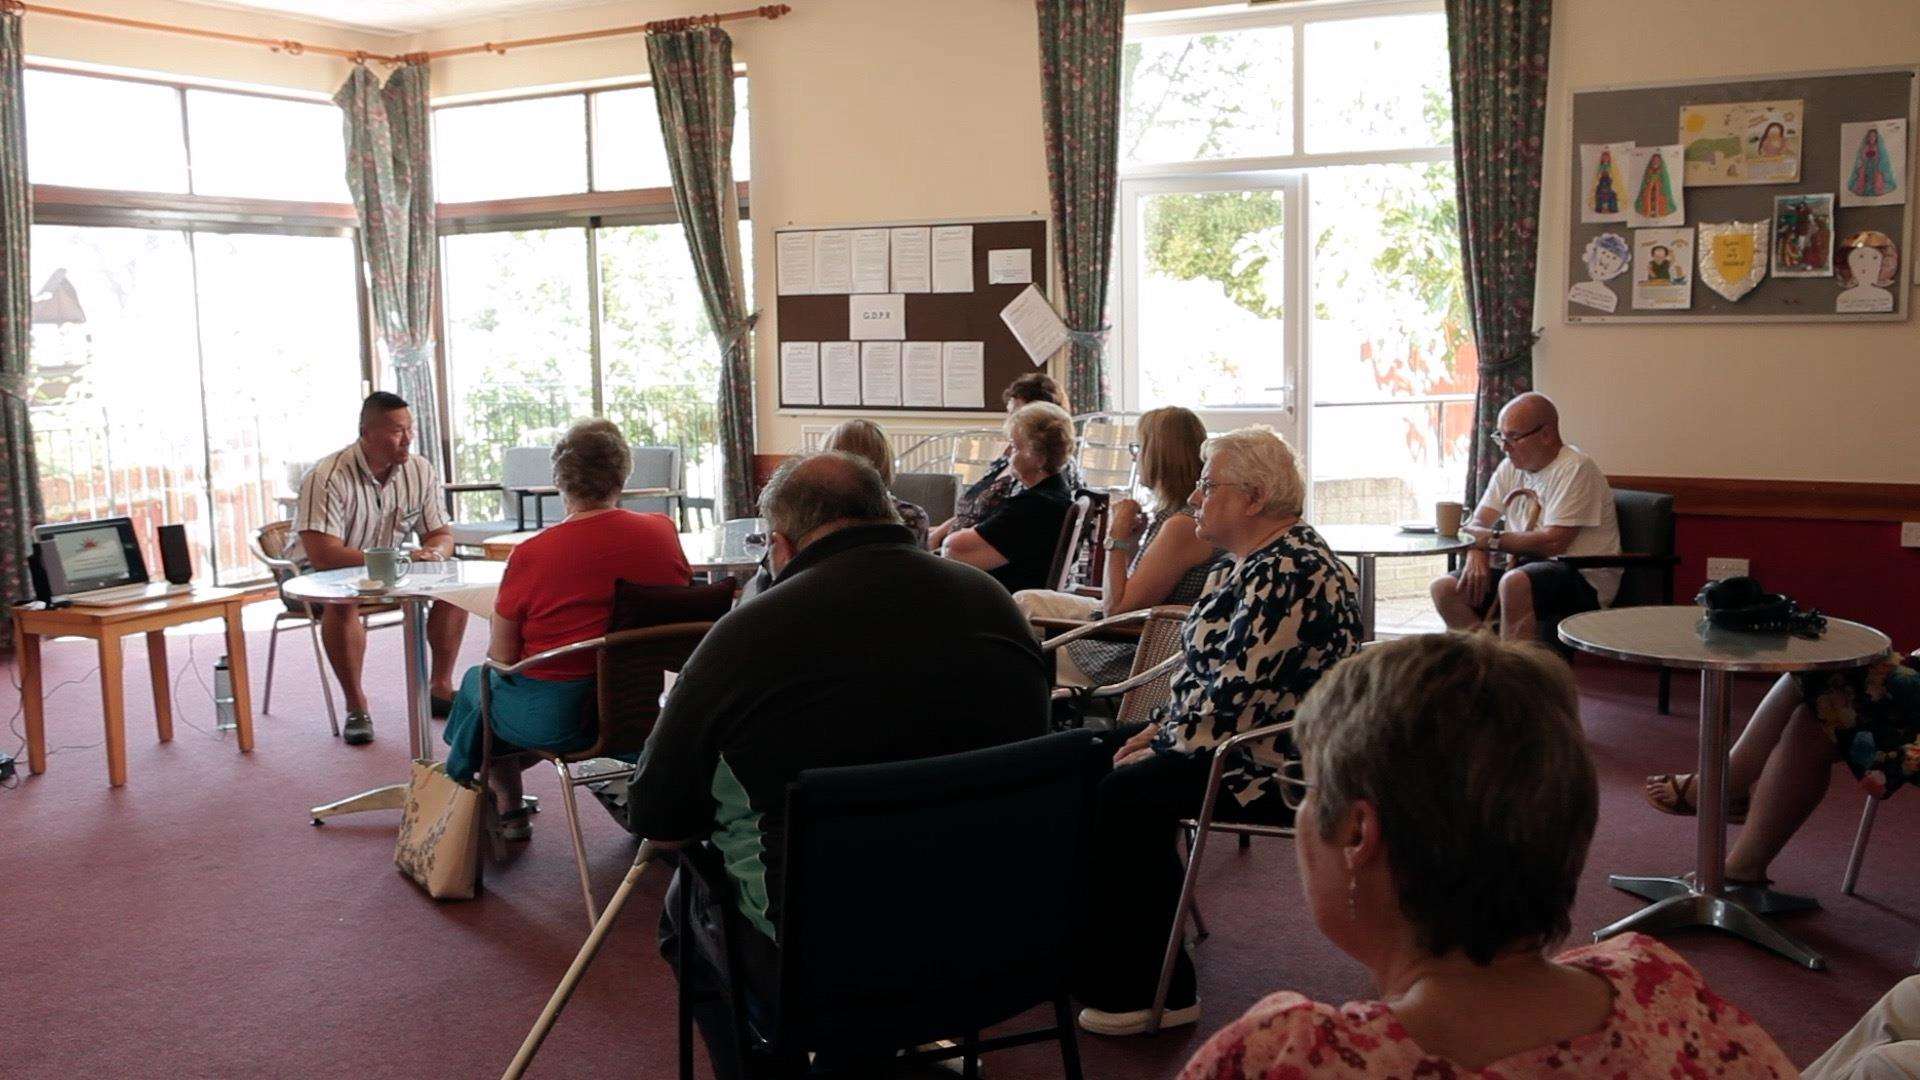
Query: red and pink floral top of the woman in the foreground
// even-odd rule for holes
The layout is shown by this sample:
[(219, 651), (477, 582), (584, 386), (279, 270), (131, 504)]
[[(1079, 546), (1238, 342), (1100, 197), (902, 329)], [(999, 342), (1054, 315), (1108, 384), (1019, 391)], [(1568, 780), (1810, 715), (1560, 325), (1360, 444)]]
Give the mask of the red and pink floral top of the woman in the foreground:
[(1613, 984), (1613, 1013), (1597, 1030), (1465, 1068), (1421, 1049), (1384, 1001), (1334, 1009), (1281, 992), (1215, 1032), (1181, 1080), (1799, 1076), (1753, 1017), (1707, 990), (1680, 953), (1645, 934), (1569, 949), (1557, 961)]

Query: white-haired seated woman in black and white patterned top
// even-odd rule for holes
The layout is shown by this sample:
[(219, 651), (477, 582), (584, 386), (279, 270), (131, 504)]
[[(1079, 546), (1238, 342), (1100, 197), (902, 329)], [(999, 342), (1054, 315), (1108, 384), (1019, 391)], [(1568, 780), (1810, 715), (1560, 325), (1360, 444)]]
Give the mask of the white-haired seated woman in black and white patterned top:
[[(1359, 651), (1359, 582), (1300, 521), (1306, 479), (1292, 446), (1263, 427), (1206, 444), (1192, 503), (1198, 536), (1225, 548), (1181, 628), (1185, 665), (1167, 705), (1114, 755), (1094, 811), (1091, 892), (1077, 997), (1079, 1024), (1139, 1034), (1160, 976), (1181, 892), (1181, 819), (1200, 813), (1212, 751), (1227, 738), (1294, 715), (1321, 675)], [(1288, 740), (1229, 761), (1225, 819), (1284, 822), (1273, 778)], [(1162, 1026), (1200, 1017), (1185, 951)]]

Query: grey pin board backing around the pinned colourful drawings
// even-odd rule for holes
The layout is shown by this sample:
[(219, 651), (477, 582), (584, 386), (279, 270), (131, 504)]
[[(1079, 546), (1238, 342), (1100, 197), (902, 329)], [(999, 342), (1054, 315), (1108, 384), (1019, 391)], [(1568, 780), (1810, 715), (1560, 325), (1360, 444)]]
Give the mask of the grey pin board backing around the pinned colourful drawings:
[[(1832, 240), (1862, 231), (1878, 231), (1893, 238), (1899, 256), (1899, 277), (1891, 282), (1893, 311), (1839, 313), (1836, 300), (1843, 288), (1837, 277), (1776, 277), (1766, 273), (1740, 300), (1726, 300), (1699, 281), (1697, 259), (1692, 282), (1692, 304), (1684, 309), (1634, 307), (1630, 267), (1611, 284), (1617, 286), (1619, 307), (1605, 313), (1567, 300), (1569, 288), (1588, 281), (1582, 261), (1586, 248), (1601, 233), (1626, 236), (1634, 248), (1634, 229), (1628, 223), (1582, 223), (1586, 173), (1582, 146), (1634, 142), (1642, 148), (1668, 146), (1680, 140), (1682, 108), (1734, 102), (1803, 102), (1799, 179), (1791, 183), (1745, 183), (1730, 186), (1684, 186), (1684, 223), (1693, 231), (1701, 223), (1774, 221), (1774, 198), (1797, 194), (1836, 196), (1832, 211)], [(1572, 158), (1571, 181), (1563, 190), (1567, 215), (1567, 254), (1561, 263), (1561, 306), (1567, 323), (1876, 323), (1905, 321), (1912, 296), (1912, 211), (1914, 198), (1897, 206), (1845, 206), (1837, 196), (1847, 183), (1841, 163), (1841, 125), (1905, 119), (1905, 160), (1901, 184), (1912, 184), (1914, 127), (1920, 121), (1920, 79), (1914, 67), (1876, 67), (1857, 71), (1818, 71), (1803, 75), (1772, 75), (1764, 79), (1699, 79), (1647, 86), (1607, 86), (1574, 90), (1569, 110), (1567, 154)], [(1684, 177), (1684, 163), (1674, 171), (1674, 183)], [(1624, 184), (1619, 200), (1634, 198)], [(1705, 244), (1695, 244), (1695, 256)], [(1768, 231), (1768, 252), (1772, 231)], [(1836, 263), (1839, 254), (1836, 252)]]

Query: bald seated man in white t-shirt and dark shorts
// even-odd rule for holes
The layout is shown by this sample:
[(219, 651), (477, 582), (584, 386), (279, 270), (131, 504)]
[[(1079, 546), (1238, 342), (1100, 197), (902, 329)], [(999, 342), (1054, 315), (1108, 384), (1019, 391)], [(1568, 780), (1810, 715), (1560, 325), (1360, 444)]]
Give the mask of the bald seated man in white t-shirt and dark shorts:
[[(1546, 394), (1521, 394), (1500, 409), (1494, 440), (1507, 452), (1480, 505), (1461, 528), (1467, 565), (1434, 578), (1434, 609), (1453, 630), (1480, 625), (1500, 600), (1500, 634), (1532, 640), (1561, 619), (1613, 603), (1620, 571), (1576, 571), (1555, 555), (1619, 555), (1613, 488), (1592, 457), (1561, 442), (1559, 409)], [(1534, 561), (1496, 575), (1492, 553)]]

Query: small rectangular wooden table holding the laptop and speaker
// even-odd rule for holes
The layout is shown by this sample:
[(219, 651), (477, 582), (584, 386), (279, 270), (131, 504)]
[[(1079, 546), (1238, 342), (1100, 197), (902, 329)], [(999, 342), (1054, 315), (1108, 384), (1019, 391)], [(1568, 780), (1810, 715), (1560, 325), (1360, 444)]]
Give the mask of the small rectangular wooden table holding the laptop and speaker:
[(159, 742), (173, 742), (173, 696), (167, 690), (167, 626), (227, 621), (227, 665), (234, 692), (234, 724), (240, 751), (253, 749), (253, 692), (246, 675), (246, 630), (240, 611), (253, 600), (275, 596), (257, 588), (196, 588), (119, 607), (15, 607), (13, 644), (19, 651), (19, 698), (27, 715), (27, 771), (46, 773), (46, 701), (40, 686), (40, 638), (92, 638), (100, 646), (100, 705), (108, 732), (108, 784), (127, 782), (127, 696), (121, 686), (121, 638), (146, 634), (146, 663), (154, 680), (154, 728)]

